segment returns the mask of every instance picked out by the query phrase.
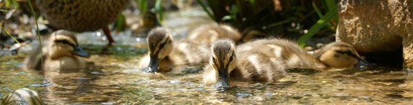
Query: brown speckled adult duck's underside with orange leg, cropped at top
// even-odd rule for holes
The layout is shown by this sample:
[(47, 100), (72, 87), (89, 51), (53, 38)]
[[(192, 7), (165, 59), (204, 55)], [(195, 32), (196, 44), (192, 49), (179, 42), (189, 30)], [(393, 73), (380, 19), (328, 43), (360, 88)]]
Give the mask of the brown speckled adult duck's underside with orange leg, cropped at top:
[(36, 0), (52, 29), (94, 32), (103, 29), (109, 45), (115, 42), (108, 24), (115, 21), (129, 0)]

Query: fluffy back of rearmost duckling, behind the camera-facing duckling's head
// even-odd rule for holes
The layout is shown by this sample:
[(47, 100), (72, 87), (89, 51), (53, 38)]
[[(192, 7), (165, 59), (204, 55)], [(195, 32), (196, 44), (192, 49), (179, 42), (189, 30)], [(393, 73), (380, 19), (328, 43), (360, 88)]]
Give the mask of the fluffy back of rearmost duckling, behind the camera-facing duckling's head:
[(231, 38), (238, 42), (241, 40), (241, 34), (235, 28), (224, 25), (224, 24), (209, 24), (209, 25), (202, 25), (197, 29), (193, 30), (188, 35), (188, 40), (191, 40), (195, 43), (202, 42), (211, 44), (215, 40), (220, 38)]

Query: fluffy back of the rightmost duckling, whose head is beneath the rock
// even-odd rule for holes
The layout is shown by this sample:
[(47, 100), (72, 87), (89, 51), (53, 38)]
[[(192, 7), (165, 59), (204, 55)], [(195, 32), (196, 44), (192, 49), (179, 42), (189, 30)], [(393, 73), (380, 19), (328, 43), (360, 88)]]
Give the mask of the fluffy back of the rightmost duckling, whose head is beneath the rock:
[(279, 38), (254, 40), (240, 45), (241, 50), (254, 50), (282, 60), (290, 68), (325, 68), (318, 60), (300, 49), (296, 43)]

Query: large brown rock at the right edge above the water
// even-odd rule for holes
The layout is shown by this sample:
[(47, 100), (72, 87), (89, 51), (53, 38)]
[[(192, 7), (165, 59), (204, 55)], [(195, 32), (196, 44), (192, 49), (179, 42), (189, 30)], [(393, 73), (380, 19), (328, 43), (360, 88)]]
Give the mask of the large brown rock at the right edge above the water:
[(403, 66), (413, 69), (412, 0), (341, 0), (336, 41), (359, 54), (403, 49)]

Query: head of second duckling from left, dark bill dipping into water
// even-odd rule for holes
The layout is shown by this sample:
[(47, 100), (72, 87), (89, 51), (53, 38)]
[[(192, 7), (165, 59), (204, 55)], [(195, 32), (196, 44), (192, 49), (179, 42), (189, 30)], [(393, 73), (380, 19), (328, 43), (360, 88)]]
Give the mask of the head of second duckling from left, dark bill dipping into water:
[(160, 60), (171, 54), (173, 49), (173, 38), (166, 27), (156, 27), (151, 30), (147, 38), (149, 56), (151, 58), (148, 67), (151, 72), (158, 69)]

